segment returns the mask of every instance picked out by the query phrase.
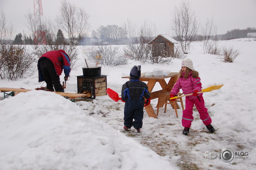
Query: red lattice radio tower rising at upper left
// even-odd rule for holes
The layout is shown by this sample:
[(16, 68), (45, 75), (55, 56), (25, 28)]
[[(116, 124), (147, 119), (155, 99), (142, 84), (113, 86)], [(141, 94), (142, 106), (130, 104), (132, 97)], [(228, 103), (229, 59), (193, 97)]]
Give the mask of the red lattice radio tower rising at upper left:
[[(43, 7), (41, 0), (34, 0), (34, 15), (39, 16), (39, 28), (41, 28), (41, 15), (43, 15)], [(46, 45), (45, 32), (35, 31), (35, 44)]]

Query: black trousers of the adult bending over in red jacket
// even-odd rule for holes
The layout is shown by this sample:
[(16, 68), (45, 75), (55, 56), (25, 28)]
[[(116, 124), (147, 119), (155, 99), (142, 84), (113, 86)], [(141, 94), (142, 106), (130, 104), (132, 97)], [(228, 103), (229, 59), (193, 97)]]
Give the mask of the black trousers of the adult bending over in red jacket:
[(39, 67), (42, 72), (44, 81), (47, 84), (46, 88), (53, 92), (54, 89), (56, 92), (64, 92), (64, 89), (61, 86), (59, 76), (55, 71), (52, 61), (48, 58), (42, 58), (39, 60)]

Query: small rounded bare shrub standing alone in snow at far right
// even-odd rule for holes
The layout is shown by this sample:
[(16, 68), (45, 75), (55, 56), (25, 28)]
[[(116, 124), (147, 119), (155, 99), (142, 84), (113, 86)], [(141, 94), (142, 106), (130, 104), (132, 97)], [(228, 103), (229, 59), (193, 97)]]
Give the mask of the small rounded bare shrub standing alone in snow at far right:
[(233, 63), (236, 57), (240, 54), (240, 50), (233, 47), (223, 47), (221, 59), (225, 63)]

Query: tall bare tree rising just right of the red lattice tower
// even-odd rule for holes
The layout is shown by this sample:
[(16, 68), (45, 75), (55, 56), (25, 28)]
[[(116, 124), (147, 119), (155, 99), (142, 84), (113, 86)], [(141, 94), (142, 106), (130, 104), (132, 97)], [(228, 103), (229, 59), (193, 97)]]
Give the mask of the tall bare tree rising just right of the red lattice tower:
[(58, 25), (68, 36), (69, 44), (77, 45), (79, 37), (84, 37), (90, 29), (90, 16), (84, 8), (77, 7), (66, 0), (61, 1), (60, 13), (56, 20)]

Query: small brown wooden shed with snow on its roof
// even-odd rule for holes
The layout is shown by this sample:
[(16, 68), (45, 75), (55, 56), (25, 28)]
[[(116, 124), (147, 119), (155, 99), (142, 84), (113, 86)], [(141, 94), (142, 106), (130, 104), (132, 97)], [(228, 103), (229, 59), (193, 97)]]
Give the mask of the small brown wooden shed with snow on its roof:
[(174, 53), (174, 44), (177, 44), (175, 39), (166, 34), (159, 34), (148, 44), (152, 44), (153, 57), (172, 57)]

